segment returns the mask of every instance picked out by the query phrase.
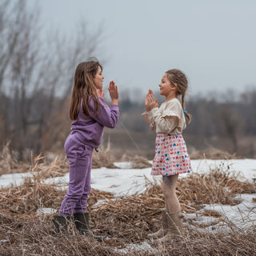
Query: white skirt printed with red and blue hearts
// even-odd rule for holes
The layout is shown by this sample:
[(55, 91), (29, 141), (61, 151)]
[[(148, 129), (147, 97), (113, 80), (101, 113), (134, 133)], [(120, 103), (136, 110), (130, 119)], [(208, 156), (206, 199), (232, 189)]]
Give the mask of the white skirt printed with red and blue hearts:
[(190, 172), (190, 156), (182, 134), (157, 134), (151, 175), (170, 176)]

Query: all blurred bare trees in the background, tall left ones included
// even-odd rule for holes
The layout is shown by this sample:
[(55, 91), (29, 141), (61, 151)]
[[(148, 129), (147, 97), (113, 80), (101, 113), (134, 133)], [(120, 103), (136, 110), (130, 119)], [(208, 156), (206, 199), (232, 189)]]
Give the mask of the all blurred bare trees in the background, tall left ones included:
[[(86, 22), (81, 22), (69, 36), (43, 31), (40, 12), (28, 10), (26, 4), (26, 0), (0, 2), (0, 147), (9, 142), (20, 160), (31, 151), (63, 148), (70, 133), (75, 66), (101, 47), (100, 28), (91, 34)], [(256, 89), (253, 86), (236, 98), (223, 94), (227, 97), (222, 101), (214, 95), (186, 101), (192, 122), (184, 135), (198, 148), (226, 142), (232, 153), (243, 143), (247, 154), (254, 156)], [(134, 102), (122, 91), (120, 95), (118, 129), (148, 131), (141, 115), (144, 99)]]

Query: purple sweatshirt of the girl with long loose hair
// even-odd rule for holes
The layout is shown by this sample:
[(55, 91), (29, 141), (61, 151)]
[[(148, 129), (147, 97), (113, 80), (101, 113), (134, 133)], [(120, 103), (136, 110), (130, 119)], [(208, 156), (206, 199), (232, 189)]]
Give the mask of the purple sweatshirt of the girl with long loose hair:
[(103, 98), (99, 96), (98, 101), (98, 114), (94, 115), (94, 101), (91, 99), (88, 107), (90, 117), (86, 118), (81, 107), (78, 113), (78, 119), (71, 123), (71, 134), (75, 134), (75, 138), (78, 142), (85, 143), (95, 149), (97, 149), (102, 142), (104, 126), (114, 128), (118, 122), (119, 116), (118, 106), (107, 106)]

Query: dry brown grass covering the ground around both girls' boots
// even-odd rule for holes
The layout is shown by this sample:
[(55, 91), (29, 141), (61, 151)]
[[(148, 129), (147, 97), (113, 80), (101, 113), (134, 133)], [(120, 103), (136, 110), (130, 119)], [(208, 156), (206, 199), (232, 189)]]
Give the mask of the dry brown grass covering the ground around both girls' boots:
[[(105, 162), (102, 162), (111, 166), (113, 156), (109, 151), (103, 150), (97, 157), (104, 157)], [(95, 166), (99, 164), (98, 158), (94, 158)], [(136, 161), (140, 162), (138, 158)], [(74, 226), (66, 233), (56, 234), (52, 215), (38, 215), (36, 211), (40, 207), (58, 210), (66, 191), (57, 190), (44, 181), (66, 173), (66, 159), (55, 158), (50, 162), (38, 157), (28, 165), (15, 162), (5, 153), (0, 170), (9, 173), (30, 170), (33, 174), (22, 186), (0, 190), (0, 255), (256, 255), (255, 226), (241, 230), (210, 210), (205, 210), (204, 214), (228, 226), (226, 231), (187, 229), (179, 241), (160, 244), (148, 240), (146, 235), (158, 229), (164, 207), (162, 188), (156, 183), (149, 183), (144, 194), (120, 198), (99, 190), (91, 191), (90, 226), (94, 234), (108, 238), (105, 242), (79, 235)], [(236, 194), (256, 193), (256, 186), (239, 181), (229, 169), (217, 168), (208, 174), (190, 174), (180, 179), (177, 193), (182, 212), (197, 214), (203, 204), (236, 205), (239, 203)], [(95, 205), (100, 199), (104, 202)]]

